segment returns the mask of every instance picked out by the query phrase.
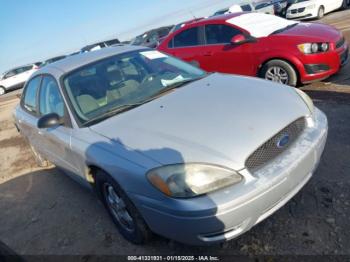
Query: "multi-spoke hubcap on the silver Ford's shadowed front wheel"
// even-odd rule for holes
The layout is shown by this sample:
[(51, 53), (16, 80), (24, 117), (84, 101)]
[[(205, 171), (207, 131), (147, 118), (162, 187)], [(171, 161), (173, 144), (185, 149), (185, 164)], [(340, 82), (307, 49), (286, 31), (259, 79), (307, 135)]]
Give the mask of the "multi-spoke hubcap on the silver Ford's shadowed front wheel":
[(106, 183), (103, 187), (107, 206), (119, 224), (129, 232), (135, 230), (133, 218), (130, 216), (124, 200), (118, 196), (113, 186)]

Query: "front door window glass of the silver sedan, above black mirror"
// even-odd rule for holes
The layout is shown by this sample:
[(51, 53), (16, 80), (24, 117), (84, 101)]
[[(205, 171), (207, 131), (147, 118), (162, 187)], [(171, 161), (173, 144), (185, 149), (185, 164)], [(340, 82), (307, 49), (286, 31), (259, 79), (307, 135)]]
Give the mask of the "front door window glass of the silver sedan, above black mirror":
[(51, 76), (44, 76), (39, 96), (40, 114), (56, 113), (64, 116), (64, 103), (56, 80)]

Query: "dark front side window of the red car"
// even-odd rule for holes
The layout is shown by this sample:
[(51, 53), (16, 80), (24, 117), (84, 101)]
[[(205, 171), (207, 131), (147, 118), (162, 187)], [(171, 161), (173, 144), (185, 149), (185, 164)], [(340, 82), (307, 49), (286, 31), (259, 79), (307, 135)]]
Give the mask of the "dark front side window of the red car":
[(208, 45), (229, 44), (231, 38), (238, 34), (241, 34), (241, 31), (228, 25), (217, 24), (205, 26), (206, 43)]

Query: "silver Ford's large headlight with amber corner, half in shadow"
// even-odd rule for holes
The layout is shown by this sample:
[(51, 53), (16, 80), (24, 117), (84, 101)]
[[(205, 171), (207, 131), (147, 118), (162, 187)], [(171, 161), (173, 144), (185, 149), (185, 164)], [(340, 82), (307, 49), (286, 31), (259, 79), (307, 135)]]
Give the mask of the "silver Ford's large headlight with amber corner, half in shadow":
[(234, 170), (200, 163), (174, 164), (150, 170), (148, 180), (170, 197), (195, 197), (239, 183)]

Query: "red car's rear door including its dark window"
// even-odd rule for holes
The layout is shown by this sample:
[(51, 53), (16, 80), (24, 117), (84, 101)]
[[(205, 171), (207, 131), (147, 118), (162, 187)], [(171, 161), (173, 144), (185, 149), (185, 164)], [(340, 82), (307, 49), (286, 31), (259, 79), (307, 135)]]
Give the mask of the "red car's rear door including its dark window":
[(168, 43), (167, 53), (203, 69), (203, 40), (200, 26), (179, 31)]

